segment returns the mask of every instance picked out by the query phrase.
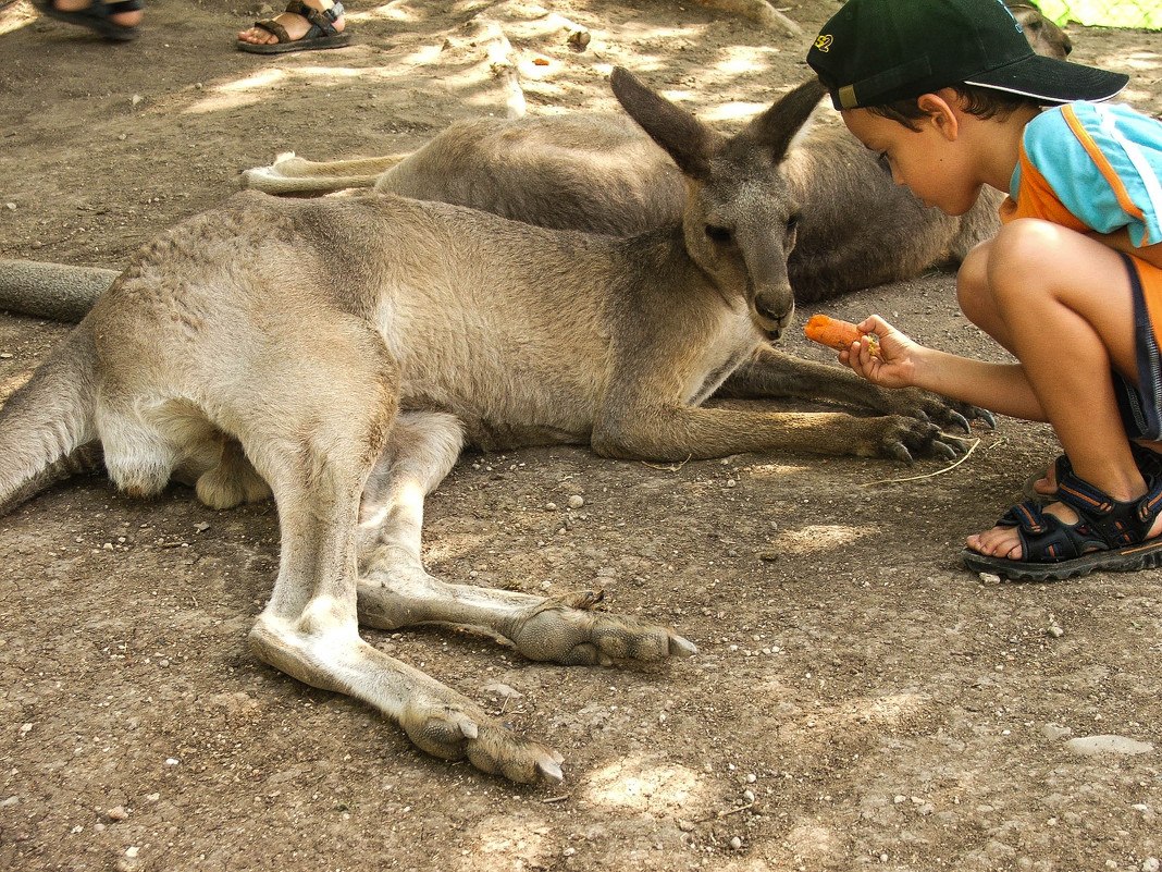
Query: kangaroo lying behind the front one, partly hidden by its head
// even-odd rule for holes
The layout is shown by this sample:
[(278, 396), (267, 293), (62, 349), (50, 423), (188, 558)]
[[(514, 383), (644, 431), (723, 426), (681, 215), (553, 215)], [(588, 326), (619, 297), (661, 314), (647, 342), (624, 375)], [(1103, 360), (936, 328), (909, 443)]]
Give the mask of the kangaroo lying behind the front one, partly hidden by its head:
[[(1035, 51), (1073, 50), (1034, 3), (1007, 5)], [(788, 271), (801, 305), (956, 264), (1000, 227), (999, 192), (987, 190), (962, 216), (926, 208), (841, 126), (808, 131), (783, 172), (798, 205)], [(375, 187), (624, 236), (680, 220), (686, 202), (669, 156), (623, 116), (596, 113), (459, 122), (411, 156), (311, 162), (289, 152), (245, 171), (242, 185), (272, 194)]]

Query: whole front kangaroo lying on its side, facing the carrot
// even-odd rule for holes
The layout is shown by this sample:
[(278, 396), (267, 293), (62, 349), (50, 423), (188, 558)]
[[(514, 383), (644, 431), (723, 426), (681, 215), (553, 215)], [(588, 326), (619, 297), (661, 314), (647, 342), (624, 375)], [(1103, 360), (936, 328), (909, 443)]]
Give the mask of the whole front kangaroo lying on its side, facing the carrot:
[(557, 752), (359, 626), (471, 626), (566, 665), (696, 649), (593, 610), (597, 593), (428, 574), (423, 500), (466, 444), (908, 459), (948, 448), (930, 415), (963, 421), (926, 398), (912, 416), (701, 408), (723, 385), (801, 389), (767, 344), (794, 312), (777, 166), (822, 90), (801, 85), (726, 138), (624, 70), (611, 81), (688, 179), (680, 223), (621, 238), (394, 194), (236, 194), (146, 245), (0, 409), (0, 513), (98, 459), (132, 495), (171, 479), (217, 509), (273, 495), (279, 569), (249, 634), (259, 659), (364, 701), (431, 755), (562, 778)]

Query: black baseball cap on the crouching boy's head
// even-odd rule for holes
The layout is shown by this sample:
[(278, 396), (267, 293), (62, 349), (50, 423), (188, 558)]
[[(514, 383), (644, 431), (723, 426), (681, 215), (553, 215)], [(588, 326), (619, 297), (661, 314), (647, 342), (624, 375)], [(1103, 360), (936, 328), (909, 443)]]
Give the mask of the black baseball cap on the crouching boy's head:
[(1129, 81), (1035, 53), (1002, 0), (847, 0), (819, 31), (806, 62), (837, 109), (959, 84), (1041, 103), (1109, 100)]

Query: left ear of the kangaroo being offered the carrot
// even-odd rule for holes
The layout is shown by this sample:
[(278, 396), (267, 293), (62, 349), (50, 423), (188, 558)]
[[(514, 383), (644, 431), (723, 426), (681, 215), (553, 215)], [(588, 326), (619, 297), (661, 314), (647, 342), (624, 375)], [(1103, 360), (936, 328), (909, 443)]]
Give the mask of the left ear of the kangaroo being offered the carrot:
[(624, 67), (614, 67), (609, 84), (630, 117), (674, 158), (682, 172), (695, 179), (709, 176), (710, 158), (725, 142), (718, 133), (647, 88)]

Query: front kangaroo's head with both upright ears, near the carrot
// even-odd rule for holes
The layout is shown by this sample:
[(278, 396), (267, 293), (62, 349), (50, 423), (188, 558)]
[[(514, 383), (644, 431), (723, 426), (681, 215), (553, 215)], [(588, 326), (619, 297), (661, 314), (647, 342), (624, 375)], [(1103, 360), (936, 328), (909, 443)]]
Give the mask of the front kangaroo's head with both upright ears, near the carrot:
[(682, 217), (693, 260), (727, 296), (743, 296), (755, 326), (779, 338), (795, 312), (787, 257), (798, 203), (781, 165), (825, 91), (810, 79), (779, 99), (737, 136), (717, 133), (614, 70), (614, 94), (686, 176)]

